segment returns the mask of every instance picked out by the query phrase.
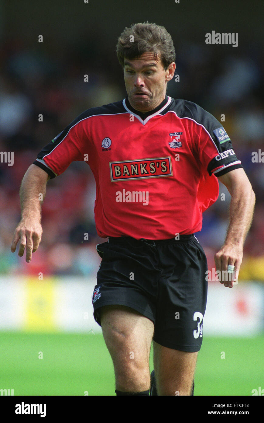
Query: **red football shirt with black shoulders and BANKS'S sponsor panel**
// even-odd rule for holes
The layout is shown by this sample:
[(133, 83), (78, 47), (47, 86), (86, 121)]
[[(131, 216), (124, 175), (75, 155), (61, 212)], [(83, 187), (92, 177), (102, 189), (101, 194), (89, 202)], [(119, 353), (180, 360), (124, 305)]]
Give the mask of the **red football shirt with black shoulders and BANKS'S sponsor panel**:
[(216, 176), (241, 168), (225, 129), (197, 104), (169, 96), (147, 113), (123, 101), (79, 115), (38, 154), (51, 178), (71, 162), (96, 182), (98, 235), (170, 239), (201, 230)]

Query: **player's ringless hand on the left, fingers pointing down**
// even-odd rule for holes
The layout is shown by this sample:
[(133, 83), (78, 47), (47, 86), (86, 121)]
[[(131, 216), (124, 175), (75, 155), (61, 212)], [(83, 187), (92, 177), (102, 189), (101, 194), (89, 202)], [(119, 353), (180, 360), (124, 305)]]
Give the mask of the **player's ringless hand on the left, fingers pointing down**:
[(11, 244), (11, 251), (16, 251), (16, 245), (20, 239), (18, 255), (22, 257), (24, 249), (26, 248), (26, 261), (30, 263), (32, 253), (38, 249), (41, 242), (42, 227), (39, 221), (32, 219), (21, 220), (14, 232), (13, 241)]

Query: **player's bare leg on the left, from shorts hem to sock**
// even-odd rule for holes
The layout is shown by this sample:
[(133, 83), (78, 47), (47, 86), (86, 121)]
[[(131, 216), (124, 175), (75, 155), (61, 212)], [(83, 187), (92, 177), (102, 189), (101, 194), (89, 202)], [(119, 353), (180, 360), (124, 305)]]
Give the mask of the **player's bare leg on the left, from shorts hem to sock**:
[(99, 313), (103, 338), (114, 364), (116, 389), (121, 392), (149, 390), (153, 322), (122, 305), (103, 306)]

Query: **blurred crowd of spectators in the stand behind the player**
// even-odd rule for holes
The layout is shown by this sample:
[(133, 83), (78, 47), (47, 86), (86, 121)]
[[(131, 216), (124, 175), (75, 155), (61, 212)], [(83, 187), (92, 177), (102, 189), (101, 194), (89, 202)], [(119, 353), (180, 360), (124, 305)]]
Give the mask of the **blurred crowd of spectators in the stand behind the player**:
[[(42, 241), (31, 263), (18, 256), (18, 248), (10, 251), (20, 220), (19, 187), (38, 152), (84, 110), (126, 95), (115, 46), (106, 48), (96, 34), (89, 39), (60, 45), (56, 54), (49, 43), (29, 49), (17, 38), (0, 46), (0, 151), (14, 151), (13, 166), (0, 163), (0, 275), (86, 277), (98, 270), (95, 245), (107, 239), (95, 230), (95, 181), (85, 162), (73, 162), (48, 181)], [(180, 82), (169, 82), (168, 95), (199, 104), (219, 121), (225, 115), (222, 125), (256, 193), (240, 280), (264, 281), (264, 163), (252, 162), (254, 151), (264, 151), (263, 57), (257, 47), (238, 54), (187, 41), (177, 42), (175, 50)], [(84, 82), (85, 74), (89, 82)], [(230, 195), (222, 184), (221, 193), (225, 200), (219, 197), (204, 213), (202, 231), (196, 233), (209, 269), (215, 267), (213, 257), (228, 225)]]

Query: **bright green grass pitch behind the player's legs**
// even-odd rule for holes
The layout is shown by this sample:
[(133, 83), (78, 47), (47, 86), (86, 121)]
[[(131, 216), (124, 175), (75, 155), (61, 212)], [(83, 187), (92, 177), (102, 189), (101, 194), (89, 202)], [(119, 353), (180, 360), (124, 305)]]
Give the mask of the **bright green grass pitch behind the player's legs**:
[[(198, 354), (195, 396), (251, 396), (253, 389), (263, 389), (263, 345), (264, 336), (205, 337)], [(43, 358), (38, 358), (41, 352)], [(103, 336), (0, 332), (0, 389), (14, 389), (14, 396), (115, 395), (112, 360)]]

